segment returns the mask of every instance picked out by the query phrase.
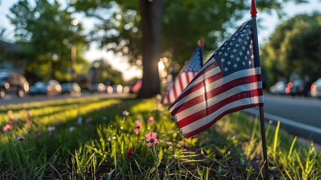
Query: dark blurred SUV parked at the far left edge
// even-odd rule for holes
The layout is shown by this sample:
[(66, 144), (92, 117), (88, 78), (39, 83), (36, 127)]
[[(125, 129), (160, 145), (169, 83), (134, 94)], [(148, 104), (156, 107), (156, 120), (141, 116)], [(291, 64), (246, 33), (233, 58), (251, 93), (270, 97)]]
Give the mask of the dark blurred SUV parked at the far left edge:
[(24, 98), (28, 92), (29, 83), (24, 75), (0, 72), (0, 98), (4, 98), (8, 93), (15, 93), (18, 97)]

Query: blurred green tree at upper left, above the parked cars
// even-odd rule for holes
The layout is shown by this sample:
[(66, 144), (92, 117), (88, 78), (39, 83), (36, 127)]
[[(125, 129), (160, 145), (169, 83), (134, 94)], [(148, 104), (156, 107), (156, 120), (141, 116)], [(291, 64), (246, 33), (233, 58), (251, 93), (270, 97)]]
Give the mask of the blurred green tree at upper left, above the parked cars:
[[(26, 76), (39, 79), (70, 79), (71, 36), (76, 39), (77, 71), (84, 71), (87, 62), (81, 57), (87, 46), (81, 35), (82, 25), (73, 32), (71, 13), (62, 9), (58, 2), (38, 0), (34, 6), (19, 1), (11, 7), (11, 23), (15, 26), (17, 43), (27, 55)], [(82, 66), (81, 66), (82, 65)]]

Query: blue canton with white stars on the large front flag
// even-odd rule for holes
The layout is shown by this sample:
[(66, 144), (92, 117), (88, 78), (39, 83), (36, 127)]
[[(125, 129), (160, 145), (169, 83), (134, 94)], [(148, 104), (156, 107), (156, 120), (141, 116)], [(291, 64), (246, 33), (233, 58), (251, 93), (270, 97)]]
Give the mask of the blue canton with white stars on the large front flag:
[(252, 22), (248, 21), (214, 53), (213, 57), (224, 76), (257, 67), (253, 51)]

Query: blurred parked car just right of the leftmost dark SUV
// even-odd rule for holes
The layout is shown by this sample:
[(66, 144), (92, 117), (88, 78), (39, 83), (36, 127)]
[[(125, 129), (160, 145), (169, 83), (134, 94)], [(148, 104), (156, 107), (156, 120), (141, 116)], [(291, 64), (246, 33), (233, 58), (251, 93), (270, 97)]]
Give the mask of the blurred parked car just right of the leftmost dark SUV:
[(45, 94), (47, 96), (58, 95), (62, 92), (62, 86), (54, 79), (48, 82), (36, 82), (30, 87), (29, 94)]

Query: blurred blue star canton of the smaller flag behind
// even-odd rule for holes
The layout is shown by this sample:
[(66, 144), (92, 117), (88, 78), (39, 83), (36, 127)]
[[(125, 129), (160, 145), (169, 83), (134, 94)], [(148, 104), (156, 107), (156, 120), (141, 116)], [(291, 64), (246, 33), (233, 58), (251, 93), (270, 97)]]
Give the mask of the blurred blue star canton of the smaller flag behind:
[(203, 66), (203, 59), (202, 59), (202, 49), (196, 48), (192, 57), (185, 65), (183, 72), (198, 72), (200, 68)]

